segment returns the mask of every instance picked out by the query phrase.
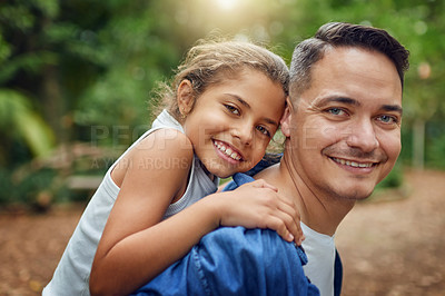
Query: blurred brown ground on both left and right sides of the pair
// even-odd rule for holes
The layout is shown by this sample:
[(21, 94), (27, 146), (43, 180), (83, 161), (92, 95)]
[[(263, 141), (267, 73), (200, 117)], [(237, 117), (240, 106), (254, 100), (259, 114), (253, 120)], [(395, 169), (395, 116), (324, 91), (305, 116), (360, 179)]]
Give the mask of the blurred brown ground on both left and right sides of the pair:
[[(407, 171), (405, 181), (402, 197), (357, 204), (342, 223), (343, 295), (445, 295), (445, 172)], [(0, 295), (40, 295), (81, 211), (0, 215)]]

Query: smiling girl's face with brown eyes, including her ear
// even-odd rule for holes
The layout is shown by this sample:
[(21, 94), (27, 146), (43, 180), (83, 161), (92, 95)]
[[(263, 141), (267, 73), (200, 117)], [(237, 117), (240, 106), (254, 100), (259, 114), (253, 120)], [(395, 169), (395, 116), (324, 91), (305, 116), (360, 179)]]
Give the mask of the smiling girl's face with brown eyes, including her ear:
[[(210, 86), (195, 105), (188, 81), (178, 89), (184, 129), (206, 169), (220, 178), (247, 171), (265, 155), (285, 109), (279, 83), (257, 70)], [(181, 96), (181, 93), (185, 96)]]

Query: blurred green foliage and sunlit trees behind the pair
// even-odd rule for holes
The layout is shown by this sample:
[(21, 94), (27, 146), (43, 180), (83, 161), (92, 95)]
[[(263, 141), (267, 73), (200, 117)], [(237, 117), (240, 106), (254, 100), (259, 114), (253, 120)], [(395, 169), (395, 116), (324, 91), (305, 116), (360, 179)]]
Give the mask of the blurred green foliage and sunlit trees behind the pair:
[[(60, 178), (105, 171), (149, 127), (151, 89), (171, 77), (198, 39), (250, 39), (290, 61), (295, 45), (328, 21), (384, 28), (411, 50), (399, 162), (411, 165), (417, 157), (445, 168), (444, 6), (441, 0), (238, 0), (225, 7), (218, 0), (1, 1), (0, 185), (16, 194), (0, 201), (26, 201), (30, 193), (62, 184)], [(425, 138), (413, 134), (415, 125)], [(424, 154), (414, 145), (418, 141), (426, 144)], [(83, 152), (70, 148), (77, 142)], [(107, 151), (89, 151), (97, 149)], [(68, 165), (14, 179), (36, 159), (59, 159), (61, 150), (70, 156)]]

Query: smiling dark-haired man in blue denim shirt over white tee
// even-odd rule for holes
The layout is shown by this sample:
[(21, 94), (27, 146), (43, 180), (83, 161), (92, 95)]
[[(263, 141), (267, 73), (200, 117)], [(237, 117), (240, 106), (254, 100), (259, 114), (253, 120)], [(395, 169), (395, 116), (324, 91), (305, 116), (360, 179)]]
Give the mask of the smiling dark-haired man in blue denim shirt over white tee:
[(140, 292), (338, 295), (334, 234), (399, 155), (407, 58), (386, 31), (349, 23), (327, 23), (294, 51), (284, 156), (255, 179), (298, 205), (307, 265), (274, 231), (220, 228)]

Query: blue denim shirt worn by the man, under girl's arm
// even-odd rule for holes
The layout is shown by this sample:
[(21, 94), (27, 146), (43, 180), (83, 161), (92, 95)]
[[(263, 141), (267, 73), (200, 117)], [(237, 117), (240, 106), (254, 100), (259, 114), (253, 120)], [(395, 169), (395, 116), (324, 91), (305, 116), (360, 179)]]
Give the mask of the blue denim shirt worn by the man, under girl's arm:
[[(253, 178), (234, 180), (238, 187)], [(319, 295), (306, 263), (304, 250), (274, 230), (220, 227), (132, 295)]]

